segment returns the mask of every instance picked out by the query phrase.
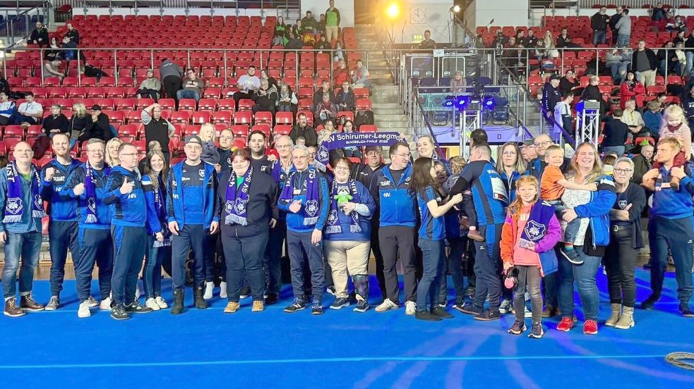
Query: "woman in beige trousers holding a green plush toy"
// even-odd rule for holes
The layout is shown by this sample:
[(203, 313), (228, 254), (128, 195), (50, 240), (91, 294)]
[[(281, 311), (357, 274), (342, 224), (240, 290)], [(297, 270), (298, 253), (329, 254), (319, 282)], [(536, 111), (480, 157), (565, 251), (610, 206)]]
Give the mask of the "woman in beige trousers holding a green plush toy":
[(371, 215), (376, 209), (364, 185), (350, 177), (352, 161), (335, 161), (335, 180), (330, 189), (330, 212), (325, 226), (323, 251), (333, 273), (335, 302), (330, 309), (349, 306), (349, 273), (357, 295), (355, 312), (369, 309), (369, 253)]

